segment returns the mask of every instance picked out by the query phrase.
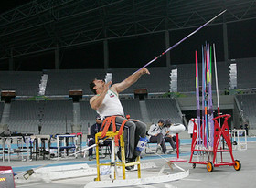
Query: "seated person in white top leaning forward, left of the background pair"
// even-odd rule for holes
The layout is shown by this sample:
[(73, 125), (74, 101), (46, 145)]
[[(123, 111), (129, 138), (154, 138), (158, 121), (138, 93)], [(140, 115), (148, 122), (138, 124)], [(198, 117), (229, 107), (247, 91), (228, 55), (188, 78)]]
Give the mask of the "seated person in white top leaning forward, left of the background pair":
[(149, 141), (157, 143), (157, 150), (162, 148), (162, 151), (166, 152), (164, 135), (162, 133), (162, 127), (164, 126), (164, 120), (158, 120), (157, 124), (152, 124), (149, 128), (148, 135)]

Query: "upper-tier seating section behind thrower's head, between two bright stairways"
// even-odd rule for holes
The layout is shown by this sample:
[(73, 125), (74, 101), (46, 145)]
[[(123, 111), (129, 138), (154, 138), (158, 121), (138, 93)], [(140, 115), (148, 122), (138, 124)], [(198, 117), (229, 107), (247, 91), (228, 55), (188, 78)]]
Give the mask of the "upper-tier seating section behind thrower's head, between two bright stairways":
[[(108, 69), (112, 73), (113, 83), (119, 83), (127, 78), (138, 68)], [(148, 92), (168, 92), (169, 74), (168, 68), (149, 68), (150, 77), (139, 79), (132, 88), (126, 89), (123, 93), (133, 93), (133, 89), (148, 89)], [(47, 70), (48, 84), (46, 95), (67, 95), (69, 89), (82, 89), (84, 95), (92, 94), (88, 88), (93, 78), (104, 79), (106, 71), (103, 69), (87, 70)]]

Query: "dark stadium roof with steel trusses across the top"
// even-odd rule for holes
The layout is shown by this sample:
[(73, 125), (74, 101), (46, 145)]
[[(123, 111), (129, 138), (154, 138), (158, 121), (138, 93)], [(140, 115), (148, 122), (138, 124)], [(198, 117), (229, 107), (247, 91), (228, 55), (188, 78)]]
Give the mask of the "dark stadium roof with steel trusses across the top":
[(34, 0), (0, 15), (0, 60), (256, 18), (256, 0)]

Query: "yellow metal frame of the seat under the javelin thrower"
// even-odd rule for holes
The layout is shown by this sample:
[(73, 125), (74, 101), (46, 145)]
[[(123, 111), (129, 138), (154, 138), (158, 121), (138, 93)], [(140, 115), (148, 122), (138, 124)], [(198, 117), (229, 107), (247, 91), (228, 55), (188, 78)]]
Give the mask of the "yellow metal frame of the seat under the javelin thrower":
[[(113, 131), (107, 131), (106, 132), (106, 137), (110, 139), (114, 139), (116, 135), (118, 135), (119, 131), (113, 132)], [(101, 134), (102, 132), (98, 132), (95, 134), (95, 143), (96, 143), (96, 162), (97, 162), (97, 178), (95, 181), (101, 181), (101, 172), (100, 172), (100, 166), (103, 165), (110, 165), (112, 166), (112, 162), (109, 163), (100, 163), (100, 158), (99, 158), (99, 139), (101, 139)], [(123, 170), (123, 180), (125, 180), (125, 167), (126, 166), (133, 166), (137, 165), (138, 169), (138, 178), (141, 178), (141, 162), (140, 162), (140, 156), (137, 157), (135, 162), (125, 162), (125, 151), (124, 151), (124, 141), (123, 141), (123, 132), (122, 135), (120, 136), (120, 147), (121, 147), (121, 157), (122, 157), (122, 162), (114, 162), (115, 166), (122, 166)], [(115, 158), (115, 156), (114, 156)], [(114, 179), (116, 179), (116, 173), (114, 173)]]

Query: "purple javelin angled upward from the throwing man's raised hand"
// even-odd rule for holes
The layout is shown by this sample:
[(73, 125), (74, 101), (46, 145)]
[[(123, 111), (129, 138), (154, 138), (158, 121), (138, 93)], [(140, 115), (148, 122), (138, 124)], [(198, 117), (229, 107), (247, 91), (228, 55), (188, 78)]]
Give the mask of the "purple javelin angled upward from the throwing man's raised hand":
[[(197, 31), (199, 31), (201, 28), (203, 28), (204, 26), (207, 26), (210, 22), (212, 22), (213, 20), (215, 20), (217, 17), (219, 17), (220, 15), (222, 15), (223, 13), (225, 13), (227, 10), (222, 11), (221, 13), (219, 13), (218, 16), (215, 16), (213, 18), (211, 18), (207, 23), (205, 23), (203, 26), (198, 27), (195, 31), (193, 31), (192, 33), (190, 33), (187, 37), (182, 38), (180, 41), (178, 41), (174, 46), (169, 47), (168, 49), (166, 49), (162, 54), (160, 54), (158, 57), (155, 57), (154, 59), (152, 59), (151, 61), (149, 61), (147, 64), (144, 65), (144, 67), (138, 69), (136, 72), (140, 71), (141, 69), (147, 67), (148, 65), (152, 64), (157, 58), (162, 57), (163, 55), (165, 55), (168, 51), (170, 51), (171, 49), (175, 48), (176, 46), (178, 46), (180, 43), (182, 43), (184, 40), (186, 40), (188, 37), (193, 36), (195, 33), (197, 33)], [(136, 72), (134, 72), (133, 74), (135, 74)]]

